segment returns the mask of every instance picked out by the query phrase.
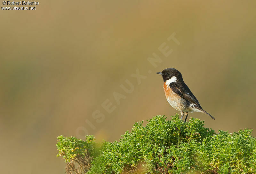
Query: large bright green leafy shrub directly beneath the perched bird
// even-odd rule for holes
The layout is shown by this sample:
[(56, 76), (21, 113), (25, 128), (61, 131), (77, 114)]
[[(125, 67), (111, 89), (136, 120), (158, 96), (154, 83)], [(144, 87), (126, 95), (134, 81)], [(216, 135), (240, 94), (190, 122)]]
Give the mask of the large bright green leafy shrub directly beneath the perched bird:
[(164, 116), (148, 121), (146, 126), (135, 123), (119, 142), (105, 142), (100, 155), (92, 155), (87, 173), (256, 172), (256, 139), (251, 136), (252, 130), (216, 134), (204, 127), (204, 121), (191, 118), (184, 123), (177, 114), (170, 121)]

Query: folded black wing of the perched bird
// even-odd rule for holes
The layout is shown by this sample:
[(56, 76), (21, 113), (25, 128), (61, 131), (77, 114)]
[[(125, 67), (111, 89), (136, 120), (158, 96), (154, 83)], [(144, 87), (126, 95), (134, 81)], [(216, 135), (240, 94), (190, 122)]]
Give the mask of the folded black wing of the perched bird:
[(200, 109), (202, 109), (195, 95), (190, 91), (190, 89), (184, 82), (171, 83), (170, 88), (172, 89), (173, 92), (178, 94), (181, 98), (188, 100), (193, 104), (196, 104)]

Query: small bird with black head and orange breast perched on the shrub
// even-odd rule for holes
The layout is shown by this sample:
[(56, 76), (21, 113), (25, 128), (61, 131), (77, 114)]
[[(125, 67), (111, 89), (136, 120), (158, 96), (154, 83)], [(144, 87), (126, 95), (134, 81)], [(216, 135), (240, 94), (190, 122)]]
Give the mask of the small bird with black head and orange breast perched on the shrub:
[(188, 117), (188, 112), (204, 112), (215, 120), (209, 113), (207, 113), (200, 106), (195, 95), (190, 91), (188, 86), (183, 81), (181, 73), (174, 68), (164, 69), (162, 72), (157, 72), (162, 75), (164, 79), (164, 94), (170, 105), (179, 110), (181, 118), (185, 113), (185, 122)]

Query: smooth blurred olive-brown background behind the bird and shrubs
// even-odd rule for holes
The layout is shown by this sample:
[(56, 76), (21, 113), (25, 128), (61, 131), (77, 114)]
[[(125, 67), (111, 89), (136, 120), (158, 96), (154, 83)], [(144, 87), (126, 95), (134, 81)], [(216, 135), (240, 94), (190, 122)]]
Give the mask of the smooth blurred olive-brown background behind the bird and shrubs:
[(169, 67), (216, 120), (189, 117), (216, 131), (256, 129), (255, 5), (59, 0), (1, 10), (1, 172), (64, 173), (57, 136), (114, 141), (134, 122), (170, 119), (178, 111), (155, 73)]

